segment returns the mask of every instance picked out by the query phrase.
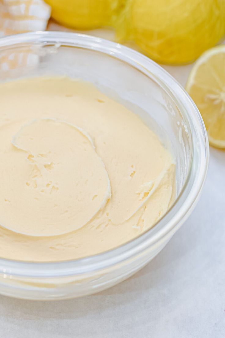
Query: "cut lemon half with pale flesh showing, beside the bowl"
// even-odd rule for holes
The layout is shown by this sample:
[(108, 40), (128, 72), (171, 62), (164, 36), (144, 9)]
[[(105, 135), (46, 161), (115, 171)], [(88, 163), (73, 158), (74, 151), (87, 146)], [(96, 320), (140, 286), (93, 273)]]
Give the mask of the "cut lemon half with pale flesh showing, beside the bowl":
[(225, 45), (209, 49), (199, 57), (186, 90), (202, 115), (209, 143), (225, 148)]

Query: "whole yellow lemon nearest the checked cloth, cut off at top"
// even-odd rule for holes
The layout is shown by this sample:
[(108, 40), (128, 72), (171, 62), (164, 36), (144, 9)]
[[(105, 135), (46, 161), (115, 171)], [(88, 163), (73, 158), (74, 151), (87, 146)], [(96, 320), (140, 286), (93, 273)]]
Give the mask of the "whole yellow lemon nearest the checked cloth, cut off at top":
[(113, 25), (124, 0), (46, 0), (52, 17), (64, 26), (90, 29)]

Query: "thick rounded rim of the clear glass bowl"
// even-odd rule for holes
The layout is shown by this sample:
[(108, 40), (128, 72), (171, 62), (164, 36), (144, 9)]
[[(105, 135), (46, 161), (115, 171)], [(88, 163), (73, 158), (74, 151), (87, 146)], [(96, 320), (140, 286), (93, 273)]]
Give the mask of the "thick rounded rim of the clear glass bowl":
[[(36, 31), (0, 39), (0, 52), (21, 44), (74, 46), (115, 57), (135, 67), (167, 92), (184, 114), (191, 130), (190, 166), (178, 197), (166, 214), (135, 239), (103, 253), (60, 262), (26, 262), (0, 258), (0, 273), (26, 277), (74, 276), (108, 269), (149, 249), (166, 236), (172, 236), (195, 207), (202, 190), (209, 161), (209, 145), (204, 122), (195, 103), (184, 88), (161, 66), (145, 55), (102, 38), (86, 34)], [(169, 239), (169, 238), (168, 238)]]

